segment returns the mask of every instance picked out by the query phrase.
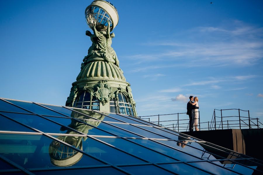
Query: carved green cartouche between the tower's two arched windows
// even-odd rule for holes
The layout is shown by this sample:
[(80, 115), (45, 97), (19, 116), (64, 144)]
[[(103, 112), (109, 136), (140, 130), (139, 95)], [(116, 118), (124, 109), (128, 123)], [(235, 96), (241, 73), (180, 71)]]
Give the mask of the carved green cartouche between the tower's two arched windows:
[(109, 84), (107, 84), (106, 80), (100, 81), (97, 86), (97, 91), (95, 93), (95, 97), (102, 103), (104, 106), (105, 103), (110, 101), (113, 93), (111, 92), (112, 88)]

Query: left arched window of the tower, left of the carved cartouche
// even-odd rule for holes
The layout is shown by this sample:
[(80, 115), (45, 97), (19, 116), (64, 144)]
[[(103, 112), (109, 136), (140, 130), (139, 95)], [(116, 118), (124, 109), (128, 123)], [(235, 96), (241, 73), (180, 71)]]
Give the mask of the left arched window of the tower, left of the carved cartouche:
[(100, 103), (96, 97), (92, 97), (92, 101), (90, 98), (90, 93), (83, 91), (77, 96), (77, 100), (73, 104), (75, 108), (84, 108), (84, 109), (92, 109), (92, 110), (100, 110)]

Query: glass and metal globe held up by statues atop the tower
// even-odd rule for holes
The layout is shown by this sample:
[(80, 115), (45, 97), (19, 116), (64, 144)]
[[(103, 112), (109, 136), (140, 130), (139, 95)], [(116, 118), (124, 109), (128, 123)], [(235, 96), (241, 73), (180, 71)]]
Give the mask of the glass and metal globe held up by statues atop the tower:
[(108, 21), (110, 22), (110, 31), (112, 31), (119, 22), (119, 15), (114, 5), (108, 1), (95, 0), (85, 10), (86, 22), (92, 29), (96, 25), (97, 30), (106, 30)]

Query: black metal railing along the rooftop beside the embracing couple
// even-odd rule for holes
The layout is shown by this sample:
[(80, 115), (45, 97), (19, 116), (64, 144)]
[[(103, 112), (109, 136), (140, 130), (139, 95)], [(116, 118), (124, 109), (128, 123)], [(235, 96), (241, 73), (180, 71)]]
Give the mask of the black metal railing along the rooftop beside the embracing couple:
[[(220, 115), (216, 116), (216, 111), (220, 111)], [(238, 111), (238, 115), (224, 116), (224, 111)], [(247, 113), (247, 116), (241, 116), (240, 112)], [(184, 115), (182, 115), (184, 114)], [(173, 114), (158, 114), (158, 115), (148, 115), (139, 116), (143, 120), (153, 122), (160, 126), (164, 126), (178, 132), (188, 131), (189, 128), (189, 117), (185, 115), (186, 113), (173, 113)], [(214, 109), (212, 120), (209, 122), (200, 122), (200, 111), (198, 111), (198, 129), (199, 130), (217, 130), (217, 129), (253, 129), (260, 128), (263, 125), (258, 118), (251, 118), (249, 110), (241, 109)], [(175, 118), (174, 120), (165, 120), (165, 116), (169, 118)], [(146, 118), (148, 117), (148, 118)], [(162, 118), (162, 120), (160, 120)], [(151, 121), (152, 120), (152, 121)], [(194, 118), (193, 118), (194, 120)], [(193, 126), (195, 129), (195, 125)]]

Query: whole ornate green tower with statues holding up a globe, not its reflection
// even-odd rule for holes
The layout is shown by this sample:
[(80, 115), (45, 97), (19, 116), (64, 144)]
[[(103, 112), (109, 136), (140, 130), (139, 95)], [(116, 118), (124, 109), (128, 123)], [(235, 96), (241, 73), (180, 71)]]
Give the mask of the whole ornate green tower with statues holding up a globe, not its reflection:
[(119, 16), (113, 4), (96, 0), (85, 10), (86, 31), (92, 45), (84, 57), (77, 81), (72, 83), (66, 106), (137, 116), (130, 84), (111, 47)]

